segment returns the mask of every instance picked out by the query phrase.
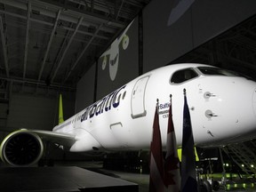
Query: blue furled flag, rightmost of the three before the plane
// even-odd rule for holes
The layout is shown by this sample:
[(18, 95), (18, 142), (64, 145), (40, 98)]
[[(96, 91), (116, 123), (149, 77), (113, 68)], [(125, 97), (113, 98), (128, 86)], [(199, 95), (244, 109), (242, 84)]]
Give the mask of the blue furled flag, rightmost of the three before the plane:
[(194, 138), (191, 119), (188, 110), (186, 90), (184, 89), (183, 108), (183, 135), (182, 135), (182, 158), (181, 158), (181, 191), (197, 191), (196, 162), (194, 153)]

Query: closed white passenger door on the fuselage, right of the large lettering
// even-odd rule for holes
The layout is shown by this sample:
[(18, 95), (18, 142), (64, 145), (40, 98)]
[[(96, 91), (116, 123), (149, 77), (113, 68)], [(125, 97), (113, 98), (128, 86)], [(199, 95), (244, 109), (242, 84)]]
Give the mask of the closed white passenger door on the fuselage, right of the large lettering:
[(146, 116), (145, 91), (149, 76), (140, 78), (132, 89), (132, 118)]

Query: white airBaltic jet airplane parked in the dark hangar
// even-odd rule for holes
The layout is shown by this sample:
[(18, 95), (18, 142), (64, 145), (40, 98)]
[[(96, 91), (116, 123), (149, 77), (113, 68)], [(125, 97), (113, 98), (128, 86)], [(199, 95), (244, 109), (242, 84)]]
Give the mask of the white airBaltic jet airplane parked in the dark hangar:
[(170, 94), (180, 148), (183, 89), (187, 90), (196, 147), (220, 147), (255, 137), (256, 83), (225, 69), (185, 63), (135, 78), (56, 125), (52, 132), (21, 129), (10, 133), (1, 144), (1, 158), (12, 165), (35, 164), (45, 140), (71, 152), (148, 150), (157, 99), (165, 149)]

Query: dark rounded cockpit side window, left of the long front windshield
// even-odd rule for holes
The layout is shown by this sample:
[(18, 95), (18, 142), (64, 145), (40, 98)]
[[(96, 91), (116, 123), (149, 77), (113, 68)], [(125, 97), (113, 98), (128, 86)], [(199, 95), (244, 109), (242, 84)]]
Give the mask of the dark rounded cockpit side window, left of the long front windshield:
[(193, 79), (196, 76), (198, 76), (198, 74), (196, 73), (196, 71), (193, 68), (185, 68), (185, 69), (176, 71), (172, 75), (171, 83), (172, 84), (180, 84), (185, 81), (188, 81), (189, 79)]

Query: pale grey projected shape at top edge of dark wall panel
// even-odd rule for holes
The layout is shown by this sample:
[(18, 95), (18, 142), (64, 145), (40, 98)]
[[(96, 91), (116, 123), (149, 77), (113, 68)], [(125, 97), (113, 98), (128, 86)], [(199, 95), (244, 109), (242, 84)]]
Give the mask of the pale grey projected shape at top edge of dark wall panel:
[(172, 8), (167, 26), (171, 26), (174, 22), (180, 19), (180, 17), (188, 11), (189, 7), (195, 2), (195, 0), (178, 0), (174, 2), (177, 4)]

